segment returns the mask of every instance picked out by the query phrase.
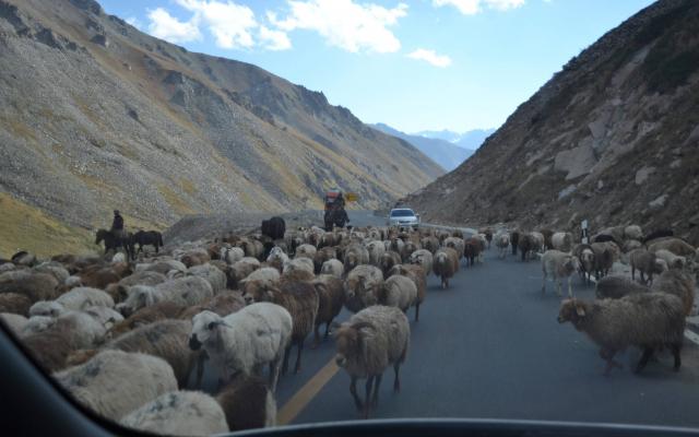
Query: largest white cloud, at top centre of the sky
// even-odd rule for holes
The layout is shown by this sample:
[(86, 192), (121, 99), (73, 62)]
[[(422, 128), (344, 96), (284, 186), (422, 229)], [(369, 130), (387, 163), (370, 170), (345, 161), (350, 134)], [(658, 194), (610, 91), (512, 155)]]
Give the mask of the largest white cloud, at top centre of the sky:
[(401, 42), (387, 27), (406, 15), (405, 3), (387, 9), (372, 3), (355, 3), (353, 0), (288, 0), (288, 5), (289, 14), (283, 20), (277, 20), (274, 13), (268, 13), (270, 22), (282, 31), (315, 31), (330, 45), (353, 52), (367, 50), (384, 54), (401, 48)]

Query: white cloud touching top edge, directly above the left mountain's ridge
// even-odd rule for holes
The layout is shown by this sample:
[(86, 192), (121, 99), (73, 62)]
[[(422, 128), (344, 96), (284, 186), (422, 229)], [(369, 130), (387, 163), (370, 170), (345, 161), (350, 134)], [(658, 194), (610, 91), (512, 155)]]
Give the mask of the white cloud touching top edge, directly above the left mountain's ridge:
[(177, 0), (177, 3), (194, 12), (194, 20), (208, 26), (216, 46), (226, 49), (254, 46), (252, 31), (258, 27), (258, 23), (250, 8), (232, 1), (215, 0)]

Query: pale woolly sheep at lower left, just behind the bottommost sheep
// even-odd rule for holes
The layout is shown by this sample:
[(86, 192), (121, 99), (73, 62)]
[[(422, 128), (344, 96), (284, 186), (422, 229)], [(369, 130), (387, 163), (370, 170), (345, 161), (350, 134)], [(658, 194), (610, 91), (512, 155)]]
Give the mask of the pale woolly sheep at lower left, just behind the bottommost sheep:
[(81, 404), (112, 421), (177, 390), (173, 368), (162, 358), (112, 350), (54, 378)]

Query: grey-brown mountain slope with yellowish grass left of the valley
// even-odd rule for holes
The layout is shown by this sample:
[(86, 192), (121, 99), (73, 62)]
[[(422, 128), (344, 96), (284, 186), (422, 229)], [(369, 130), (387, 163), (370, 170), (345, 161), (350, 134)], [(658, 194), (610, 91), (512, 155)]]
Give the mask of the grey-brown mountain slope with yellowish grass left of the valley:
[(92, 0), (0, 0), (0, 202), (34, 217), (0, 240), (68, 226), (84, 241), (112, 209), (162, 228), (319, 208), (331, 187), (375, 208), (443, 174), (321, 92), (189, 52)]

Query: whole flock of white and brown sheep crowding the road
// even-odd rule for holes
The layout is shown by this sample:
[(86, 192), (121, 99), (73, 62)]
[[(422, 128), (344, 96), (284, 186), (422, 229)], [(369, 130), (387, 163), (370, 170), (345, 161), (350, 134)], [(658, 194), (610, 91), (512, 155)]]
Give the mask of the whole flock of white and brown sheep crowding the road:
[[(589, 245), (574, 245), (569, 233), (489, 228), (470, 237), (387, 227), (266, 234), (187, 243), (135, 263), (121, 253), (40, 261), (20, 252), (0, 260), (0, 319), (83, 404), (126, 426), (175, 435), (274, 425), (274, 392), (293, 349), (298, 373), (311, 333), (315, 349), (332, 330), (335, 363), (351, 376), (350, 392), (366, 417), (388, 367), (400, 391), (406, 314), (414, 308), (418, 321), (427, 276), (449, 287), (462, 260), (482, 262), (493, 241), (500, 258), (538, 253), (542, 292), (546, 277), (559, 295), (568, 280), (558, 320), (601, 346), (607, 371), (619, 366), (615, 353), (631, 345), (643, 351), (639, 370), (664, 349), (675, 368), (680, 364), (694, 304), (687, 269), (697, 252), (679, 238), (643, 238), (638, 226), (606, 229)], [(643, 283), (607, 276), (618, 259)], [(572, 297), (576, 272), (585, 282), (595, 277), (596, 300)], [(653, 274), (660, 276), (650, 285)], [(354, 315), (339, 324), (343, 307)], [(218, 376), (215, 397), (186, 390), (201, 386), (206, 359)], [(365, 399), (359, 379), (367, 380)]]

